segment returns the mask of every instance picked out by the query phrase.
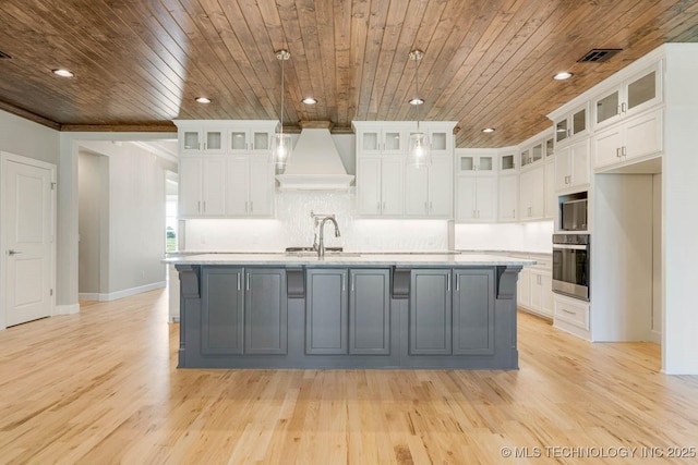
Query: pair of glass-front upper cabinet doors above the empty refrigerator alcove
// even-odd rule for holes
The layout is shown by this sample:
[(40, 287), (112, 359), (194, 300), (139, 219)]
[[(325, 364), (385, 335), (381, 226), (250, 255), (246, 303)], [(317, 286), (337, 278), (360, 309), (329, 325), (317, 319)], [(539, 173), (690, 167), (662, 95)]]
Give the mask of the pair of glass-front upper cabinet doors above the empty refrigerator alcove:
[(661, 61), (602, 93), (592, 102), (594, 127), (638, 114), (662, 102)]

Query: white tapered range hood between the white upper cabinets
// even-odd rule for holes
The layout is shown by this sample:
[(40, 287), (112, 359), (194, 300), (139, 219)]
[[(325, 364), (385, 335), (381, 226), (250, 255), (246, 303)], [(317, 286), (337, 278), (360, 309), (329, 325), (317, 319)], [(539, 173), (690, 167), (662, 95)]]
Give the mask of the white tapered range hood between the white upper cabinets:
[(346, 191), (353, 182), (347, 174), (329, 134), (332, 123), (301, 123), (301, 135), (284, 174), (278, 174), (281, 189)]

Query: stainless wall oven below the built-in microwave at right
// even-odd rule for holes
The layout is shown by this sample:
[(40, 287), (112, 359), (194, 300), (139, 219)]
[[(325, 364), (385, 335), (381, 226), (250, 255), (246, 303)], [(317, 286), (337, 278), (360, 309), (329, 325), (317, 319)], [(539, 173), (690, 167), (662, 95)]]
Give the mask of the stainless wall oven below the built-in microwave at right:
[(589, 301), (589, 234), (553, 234), (553, 292)]

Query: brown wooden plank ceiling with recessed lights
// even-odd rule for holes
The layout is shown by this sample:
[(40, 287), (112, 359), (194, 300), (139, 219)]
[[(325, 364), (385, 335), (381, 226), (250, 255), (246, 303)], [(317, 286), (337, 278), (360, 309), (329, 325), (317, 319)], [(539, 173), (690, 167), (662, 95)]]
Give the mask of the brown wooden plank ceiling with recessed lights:
[[(62, 131), (278, 119), (286, 48), (285, 126), (350, 131), (417, 118), (419, 48), (421, 119), (457, 121), (458, 147), (501, 147), (667, 41), (698, 41), (697, 0), (2, 0), (0, 109)], [(623, 51), (577, 62), (593, 48)]]

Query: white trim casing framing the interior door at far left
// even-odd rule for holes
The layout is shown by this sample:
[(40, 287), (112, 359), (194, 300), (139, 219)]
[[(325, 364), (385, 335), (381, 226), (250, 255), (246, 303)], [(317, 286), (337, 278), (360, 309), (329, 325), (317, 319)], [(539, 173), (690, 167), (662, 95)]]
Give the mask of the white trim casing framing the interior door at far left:
[[(0, 150), (0, 218), (4, 218), (7, 215), (7, 209), (4, 205), (4, 182), (5, 182), (5, 170), (8, 162), (26, 164), (34, 168), (39, 168), (43, 170), (47, 170), (51, 176), (51, 183), (56, 187), (51, 191), (51, 278), (50, 278), (50, 289), (53, 290), (51, 295), (51, 308), (49, 308), (49, 315), (57, 315), (58, 308), (56, 305), (56, 270), (58, 267), (58, 256), (57, 256), (57, 247), (56, 247), (56, 233), (58, 228), (58, 186), (57, 186), (57, 171), (58, 167), (53, 163), (48, 163), (46, 161), (37, 160), (35, 158), (23, 157), (21, 155), (11, 154), (8, 151)], [(0, 228), (0, 286), (4, 286), (7, 280), (7, 260), (5, 260), (5, 237), (2, 234), (2, 229)], [(0, 330), (7, 328), (7, 302), (4, 299), (4, 293), (2, 293), (2, 298), (0, 298)]]

